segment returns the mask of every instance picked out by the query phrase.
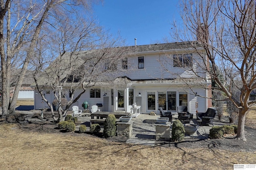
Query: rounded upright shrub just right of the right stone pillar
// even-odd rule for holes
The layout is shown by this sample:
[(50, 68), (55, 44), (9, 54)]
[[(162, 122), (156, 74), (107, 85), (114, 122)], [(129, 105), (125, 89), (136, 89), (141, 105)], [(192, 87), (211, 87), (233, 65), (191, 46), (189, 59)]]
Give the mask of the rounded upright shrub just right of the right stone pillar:
[(185, 136), (184, 126), (180, 120), (176, 120), (172, 124), (172, 140), (182, 141)]

